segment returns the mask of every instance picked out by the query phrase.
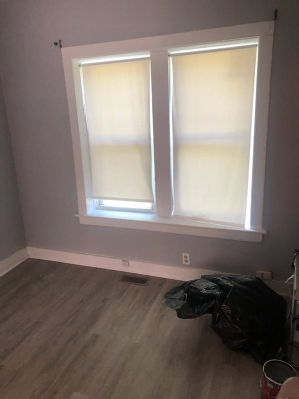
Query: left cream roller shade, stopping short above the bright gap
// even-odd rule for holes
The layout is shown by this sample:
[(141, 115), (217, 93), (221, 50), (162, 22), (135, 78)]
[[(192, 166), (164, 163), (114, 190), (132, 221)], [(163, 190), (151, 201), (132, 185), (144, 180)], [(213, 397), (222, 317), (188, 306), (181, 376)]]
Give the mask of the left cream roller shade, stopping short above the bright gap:
[(93, 198), (153, 202), (149, 68), (82, 66)]

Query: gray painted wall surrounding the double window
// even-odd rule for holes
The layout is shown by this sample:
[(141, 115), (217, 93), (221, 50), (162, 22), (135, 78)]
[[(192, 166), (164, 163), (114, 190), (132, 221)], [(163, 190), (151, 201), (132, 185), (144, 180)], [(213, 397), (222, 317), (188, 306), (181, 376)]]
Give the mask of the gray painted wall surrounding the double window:
[[(253, 274), (290, 274), (299, 246), (298, 0), (11, 0), (0, 5), (0, 71), (27, 245)], [(80, 225), (60, 50), (273, 18), (263, 243)]]

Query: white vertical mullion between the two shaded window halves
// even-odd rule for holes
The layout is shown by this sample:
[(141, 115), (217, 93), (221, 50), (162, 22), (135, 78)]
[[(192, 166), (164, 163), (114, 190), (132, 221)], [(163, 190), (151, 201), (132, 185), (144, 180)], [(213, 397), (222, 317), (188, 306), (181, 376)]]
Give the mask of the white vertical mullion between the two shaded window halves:
[(151, 60), (152, 126), (156, 214), (171, 217), (168, 52), (153, 50)]

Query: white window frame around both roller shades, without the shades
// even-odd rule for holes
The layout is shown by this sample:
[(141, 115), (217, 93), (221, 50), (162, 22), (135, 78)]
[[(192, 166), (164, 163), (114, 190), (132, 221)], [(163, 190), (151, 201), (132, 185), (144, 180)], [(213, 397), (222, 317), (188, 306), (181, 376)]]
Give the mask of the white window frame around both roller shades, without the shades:
[[(62, 59), (72, 133), (80, 223), (163, 231), (205, 237), (261, 242), (266, 230), (262, 225), (266, 143), (274, 21), (256, 22), (164, 36), (114, 41), (62, 48)], [(171, 215), (171, 155), (169, 134), (168, 50), (204, 43), (258, 38), (258, 69), (253, 142), (251, 225), (233, 227)], [(150, 53), (156, 213), (97, 209), (91, 197), (88, 138), (83, 107), (80, 64), (86, 59), (122, 54)]]

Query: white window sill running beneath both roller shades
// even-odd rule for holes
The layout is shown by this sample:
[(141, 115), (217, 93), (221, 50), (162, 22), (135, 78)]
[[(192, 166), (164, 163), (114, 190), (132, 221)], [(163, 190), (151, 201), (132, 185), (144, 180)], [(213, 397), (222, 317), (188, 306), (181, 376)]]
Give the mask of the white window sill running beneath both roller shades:
[(152, 213), (94, 210), (87, 215), (76, 214), (80, 224), (160, 231), (199, 237), (223, 238), (239, 241), (262, 242), (264, 229), (245, 229), (178, 218), (156, 216)]

